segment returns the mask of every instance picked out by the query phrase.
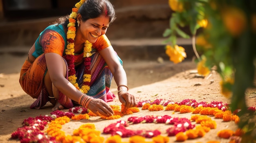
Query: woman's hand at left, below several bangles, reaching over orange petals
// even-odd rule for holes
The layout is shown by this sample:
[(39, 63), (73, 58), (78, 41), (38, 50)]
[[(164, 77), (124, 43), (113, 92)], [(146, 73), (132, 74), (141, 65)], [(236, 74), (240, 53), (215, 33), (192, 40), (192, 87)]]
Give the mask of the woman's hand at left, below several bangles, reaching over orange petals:
[(97, 115), (99, 115), (98, 112), (106, 117), (114, 115), (112, 108), (102, 99), (92, 99), (92, 101), (90, 101), (88, 104), (88, 109)]

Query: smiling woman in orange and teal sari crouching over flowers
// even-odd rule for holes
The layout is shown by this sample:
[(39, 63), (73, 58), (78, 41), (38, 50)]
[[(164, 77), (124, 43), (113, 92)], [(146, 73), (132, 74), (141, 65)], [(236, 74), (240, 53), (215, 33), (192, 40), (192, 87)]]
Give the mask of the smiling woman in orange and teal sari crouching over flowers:
[(114, 114), (106, 103), (112, 77), (125, 108), (137, 105), (128, 93), (121, 59), (105, 33), (115, 20), (108, 0), (81, 0), (72, 13), (48, 26), (31, 47), (22, 66), (20, 85), (37, 100), (30, 108), (40, 109), (47, 101), (60, 110), (78, 103), (95, 114)]

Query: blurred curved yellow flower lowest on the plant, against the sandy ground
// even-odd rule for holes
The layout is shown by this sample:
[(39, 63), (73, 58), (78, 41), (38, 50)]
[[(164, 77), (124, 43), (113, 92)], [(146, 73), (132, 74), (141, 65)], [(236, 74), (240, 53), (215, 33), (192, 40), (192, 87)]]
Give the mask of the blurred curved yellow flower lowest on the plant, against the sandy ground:
[(220, 87), (221, 87), (222, 95), (224, 95), (225, 97), (230, 97), (232, 92), (229, 88), (227, 88), (227, 86), (233, 85), (233, 84), (234, 84), (234, 79), (231, 78), (231, 77), (228, 77), (224, 81), (223, 80), (220, 81)]

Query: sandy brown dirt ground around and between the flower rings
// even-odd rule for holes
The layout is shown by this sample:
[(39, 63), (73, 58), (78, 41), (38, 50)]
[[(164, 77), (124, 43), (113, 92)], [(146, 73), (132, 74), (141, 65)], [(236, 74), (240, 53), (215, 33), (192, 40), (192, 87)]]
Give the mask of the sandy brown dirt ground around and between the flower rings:
[[(2, 49), (1, 49), (2, 50)], [(0, 52), (0, 143), (17, 143), (11, 138), (11, 133), (21, 127), (21, 123), (28, 117), (36, 117), (39, 115), (50, 114), (52, 105), (47, 103), (44, 109), (36, 110), (30, 109), (31, 103), (35, 101), (27, 95), (18, 83), (20, 68), (26, 59), (24, 52), (12, 53), (4, 51)], [(222, 101), (229, 103), (230, 99), (220, 94), (220, 77), (214, 70), (211, 76), (201, 78), (196, 77), (196, 65), (191, 60), (186, 60), (180, 64), (173, 64), (170, 61), (159, 63), (157, 61), (128, 61), (124, 60), (124, 68), (128, 76), (129, 91), (136, 96), (137, 101), (154, 100), (154, 99), (168, 99), (174, 102), (180, 102), (183, 99), (195, 99), (196, 101)], [(199, 86), (195, 86), (198, 85)], [(115, 82), (110, 90), (117, 94), (117, 86)], [(256, 90), (249, 89), (246, 93), (247, 105), (256, 106)], [(110, 105), (121, 105), (118, 98), (109, 102)], [(65, 109), (67, 110), (67, 109)], [(186, 117), (190, 119), (191, 113), (179, 114), (173, 111), (146, 111), (126, 115), (121, 119), (116, 120), (101, 120), (97, 117), (92, 117), (89, 120), (81, 120), (63, 125), (66, 134), (72, 134), (74, 129), (79, 128), (84, 123), (94, 123), (96, 130), (103, 131), (103, 128), (110, 123), (115, 123), (119, 120), (127, 120), (128, 117), (144, 115), (165, 115), (169, 114), (173, 117)], [(217, 128), (210, 130), (204, 137), (187, 140), (184, 143), (206, 143), (207, 141), (220, 141), (221, 143), (228, 143), (227, 139), (220, 139), (217, 132), (223, 129), (236, 130), (237, 125), (234, 121), (223, 122), (222, 119), (213, 119), (217, 123)], [(137, 124), (130, 125), (130, 129), (159, 129), (162, 135), (165, 130), (169, 128), (168, 125), (153, 124)], [(109, 134), (102, 134), (103, 137), (108, 138)], [(128, 141), (128, 139), (122, 139)], [(149, 139), (150, 141), (150, 139)], [(170, 137), (170, 142), (175, 142), (175, 137)]]

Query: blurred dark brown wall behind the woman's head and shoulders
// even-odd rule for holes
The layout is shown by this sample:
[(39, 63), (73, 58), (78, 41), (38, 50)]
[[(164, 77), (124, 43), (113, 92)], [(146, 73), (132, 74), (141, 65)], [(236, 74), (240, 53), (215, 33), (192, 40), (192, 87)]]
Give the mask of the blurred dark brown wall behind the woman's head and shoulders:
[[(1, 0), (0, 46), (31, 46), (58, 17), (71, 13), (79, 0)], [(171, 9), (168, 0), (110, 0), (117, 19), (108, 29), (113, 39), (162, 37)]]

